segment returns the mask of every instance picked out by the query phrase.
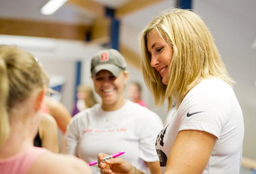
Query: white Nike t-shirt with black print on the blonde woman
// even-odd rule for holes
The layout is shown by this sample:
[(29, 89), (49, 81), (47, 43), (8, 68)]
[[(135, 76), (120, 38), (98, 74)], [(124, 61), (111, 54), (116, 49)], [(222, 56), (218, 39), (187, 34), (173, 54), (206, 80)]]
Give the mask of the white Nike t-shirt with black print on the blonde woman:
[(244, 121), (235, 93), (227, 83), (204, 79), (183, 99), (157, 138), (162, 173), (177, 133), (182, 130), (206, 131), (217, 137), (203, 174), (239, 174)]

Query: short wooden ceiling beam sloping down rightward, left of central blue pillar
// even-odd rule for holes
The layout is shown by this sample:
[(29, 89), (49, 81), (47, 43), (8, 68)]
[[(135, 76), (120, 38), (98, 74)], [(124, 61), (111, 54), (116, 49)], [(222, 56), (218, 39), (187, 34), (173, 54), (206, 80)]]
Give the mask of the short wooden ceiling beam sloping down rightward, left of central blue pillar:
[(105, 16), (105, 6), (93, 0), (68, 0), (67, 4), (78, 6), (79, 8), (92, 12), (98, 16)]

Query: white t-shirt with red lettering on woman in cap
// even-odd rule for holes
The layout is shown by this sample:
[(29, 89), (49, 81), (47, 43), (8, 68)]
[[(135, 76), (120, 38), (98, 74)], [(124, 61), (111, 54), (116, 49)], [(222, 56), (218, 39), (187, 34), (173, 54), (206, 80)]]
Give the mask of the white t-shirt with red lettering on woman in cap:
[[(99, 153), (125, 151), (121, 157), (146, 172), (144, 161), (159, 161), (155, 141), (162, 128), (156, 113), (129, 100), (115, 111), (104, 111), (96, 104), (72, 118), (61, 152), (89, 163), (96, 160)], [(99, 174), (97, 165), (91, 168), (94, 174)]]

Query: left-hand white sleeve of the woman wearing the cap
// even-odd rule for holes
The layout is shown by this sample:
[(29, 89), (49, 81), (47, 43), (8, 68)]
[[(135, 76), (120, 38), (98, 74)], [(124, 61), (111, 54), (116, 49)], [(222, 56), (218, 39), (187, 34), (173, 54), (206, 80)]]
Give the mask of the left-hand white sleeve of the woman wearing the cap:
[(79, 141), (78, 117), (73, 117), (67, 125), (64, 138), (61, 142), (61, 154), (70, 154), (77, 157), (77, 145)]

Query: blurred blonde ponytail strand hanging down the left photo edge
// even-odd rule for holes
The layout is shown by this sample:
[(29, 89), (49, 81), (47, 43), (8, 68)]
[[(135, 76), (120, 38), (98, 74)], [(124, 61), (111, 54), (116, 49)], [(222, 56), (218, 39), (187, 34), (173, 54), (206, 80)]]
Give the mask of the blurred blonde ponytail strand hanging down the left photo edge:
[(10, 125), (7, 113), (7, 97), (9, 93), (9, 80), (7, 76), (6, 64), (0, 58), (0, 147), (6, 142), (9, 136)]

